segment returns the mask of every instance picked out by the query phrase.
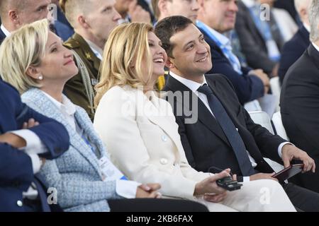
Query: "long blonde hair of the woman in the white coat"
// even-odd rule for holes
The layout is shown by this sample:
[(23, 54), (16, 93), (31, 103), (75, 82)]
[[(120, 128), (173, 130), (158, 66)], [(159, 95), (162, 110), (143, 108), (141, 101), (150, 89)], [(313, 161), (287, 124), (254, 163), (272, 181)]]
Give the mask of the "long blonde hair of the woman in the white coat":
[[(96, 107), (103, 95), (115, 85), (138, 88), (150, 82), (152, 57), (147, 33), (152, 31), (149, 23), (125, 23), (111, 32), (103, 50), (100, 82), (96, 85), (94, 100)], [(146, 75), (143, 68), (146, 68)]]

